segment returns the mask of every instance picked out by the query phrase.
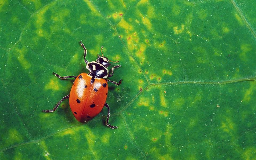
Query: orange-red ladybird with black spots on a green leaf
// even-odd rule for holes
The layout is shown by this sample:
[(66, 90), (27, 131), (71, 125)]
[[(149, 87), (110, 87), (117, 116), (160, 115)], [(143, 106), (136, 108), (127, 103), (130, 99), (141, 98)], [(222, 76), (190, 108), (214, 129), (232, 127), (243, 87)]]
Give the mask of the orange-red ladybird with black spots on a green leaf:
[[(110, 61), (107, 57), (103, 56), (103, 46), (101, 47), (102, 56), (98, 54), (96, 61), (89, 62), (86, 60), (87, 50), (84, 44), (81, 41), (79, 43), (81, 43), (81, 46), (84, 49), (84, 60), (86, 63), (86, 69), (89, 70), (89, 73), (81, 73), (78, 76), (64, 77), (61, 77), (57, 73), (53, 73), (60, 79), (75, 78), (75, 81), (69, 95), (63, 97), (52, 110), (43, 110), (43, 112), (54, 112), (64, 99), (69, 99), (70, 109), (77, 121), (87, 122), (97, 116), (105, 106), (107, 108), (106, 125), (112, 129), (118, 128), (117, 126), (112, 126), (109, 124), (110, 109), (106, 102), (108, 91), (107, 82), (111, 82), (119, 86), (122, 82), (122, 79), (117, 83), (106, 78), (112, 77), (114, 69), (121, 67), (121, 65), (112, 67), (110, 74), (107, 67), (110, 66), (109, 62), (113, 61)], [(114, 63), (117, 62), (119, 61)]]

